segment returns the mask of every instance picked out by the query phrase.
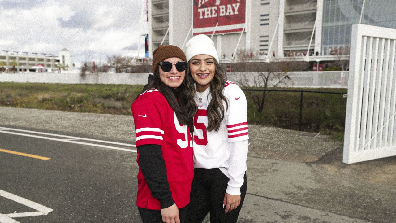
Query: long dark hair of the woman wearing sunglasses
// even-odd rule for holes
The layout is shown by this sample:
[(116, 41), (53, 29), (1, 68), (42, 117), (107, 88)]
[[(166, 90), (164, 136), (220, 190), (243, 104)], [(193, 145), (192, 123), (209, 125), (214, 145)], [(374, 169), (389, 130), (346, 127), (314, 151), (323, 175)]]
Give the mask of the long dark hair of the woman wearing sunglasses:
[[(187, 73), (187, 72), (186, 72)], [(186, 77), (187, 75), (185, 75)], [(151, 88), (156, 88), (158, 91), (165, 97), (166, 101), (168, 101), (169, 106), (175, 111), (177, 120), (181, 125), (188, 125), (188, 128), (190, 131), (193, 131), (194, 126), (192, 125), (193, 119), (190, 119), (186, 114), (185, 110), (181, 108), (180, 105), (183, 105), (185, 101), (179, 98), (179, 101), (177, 100), (176, 97), (180, 96), (181, 89), (183, 89), (186, 86), (186, 79), (183, 80), (181, 85), (177, 87), (176, 89), (169, 87), (166, 85), (164, 82), (162, 82), (160, 78), (160, 71), (157, 70), (156, 73), (154, 74), (154, 77), (148, 82), (145, 87), (143, 87), (143, 90), (137, 94), (134, 100), (136, 100), (140, 94), (145, 92), (148, 89)]]

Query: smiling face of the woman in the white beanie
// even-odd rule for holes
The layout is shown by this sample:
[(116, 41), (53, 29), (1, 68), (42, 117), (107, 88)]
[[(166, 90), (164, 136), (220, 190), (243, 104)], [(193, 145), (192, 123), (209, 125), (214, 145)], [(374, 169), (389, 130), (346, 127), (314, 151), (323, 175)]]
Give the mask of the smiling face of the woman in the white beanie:
[(190, 60), (190, 72), (192, 79), (196, 81), (196, 90), (204, 92), (215, 77), (215, 60), (209, 55), (196, 55)]

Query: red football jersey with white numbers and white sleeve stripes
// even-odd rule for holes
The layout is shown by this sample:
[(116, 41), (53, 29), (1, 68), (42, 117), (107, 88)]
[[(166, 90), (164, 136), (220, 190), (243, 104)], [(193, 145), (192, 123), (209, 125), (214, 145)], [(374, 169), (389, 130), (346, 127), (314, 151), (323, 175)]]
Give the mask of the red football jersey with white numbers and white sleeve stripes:
[[(165, 97), (155, 88), (143, 92), (131, 105), (135, 122), (136, 146), (161, 146), (172, 198), (178, 208), (190, 202), (194, 177), (192, 140), (187, 125), (180, 125)], [(139, 153), (137, 163), (139, 164)], [(137, 206), (160, 210), (160, 202), (151, 196), (150, 189), (139, 168), (137, 174)]]

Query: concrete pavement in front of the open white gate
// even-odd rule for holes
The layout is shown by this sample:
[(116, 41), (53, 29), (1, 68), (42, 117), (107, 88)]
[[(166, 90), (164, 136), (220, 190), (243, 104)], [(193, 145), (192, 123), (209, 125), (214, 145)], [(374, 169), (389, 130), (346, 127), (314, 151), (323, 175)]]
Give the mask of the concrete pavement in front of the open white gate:
[(315, 163), (249, 157), (238, 222), (396, 222), (396, 158), (341, 160), (342, 148)]

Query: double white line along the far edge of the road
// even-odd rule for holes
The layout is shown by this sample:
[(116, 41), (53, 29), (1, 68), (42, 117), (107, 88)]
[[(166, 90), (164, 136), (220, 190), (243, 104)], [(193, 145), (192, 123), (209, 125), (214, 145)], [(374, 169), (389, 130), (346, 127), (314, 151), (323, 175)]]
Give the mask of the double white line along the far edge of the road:
[[(15, 133), (15, 132), (11, 132), (11, 131), (34, 133), (37, 135), (31, 135), (31, 134), (25, 134), (25, 133)], [(58, 134), (52, 134), (52, 133), (43, 133), (43, 132), (29, 131), (29, 130), (23, 130), (23, 129), (12, 129), (12, 128), (6, 128), (6, 127), (0, 127), (0, 133), (27, 136), (27, 137), (33, 137), (33, 138), (42, 138), (42, 139), (48, 139), (48, 140), (54, 140), (54, 141), (60, 141), (60, 142), (69, 142), (69, 143), (82, 144), (82, 145), (88, 145), (88, 146), (97, 146), (97, 147), (102, 147), (102, 148), (109, 148), (109, 149), (122, 150), (122, 151), (128, 151), (128, 152), (137, 152), (137, 150), (131, 150), (131, 149), (127, 149), (127, 148), (107, 146), (107, 145), (88, 143), (88, 142), (79, 142), (79, 141), (74, 141), (74, 140), (103, 142), (103, 143), (107, 143), (107, 144), (116, 144), (116, 145), (120, 145), (120, 146), (129, 146), (129, 147), (136, 148), (136, 145), (121, 143), (121, 142), (111, 142), (111, 141), (98, 140), (98, 139), (92, 139), (92, 138), (80, 138), (80, 137), (75, 137), (75, 136), (58, 135)], [(40, 136), (40, 135), (57, 136), (57, 137), (63, 137), (63, 138), (52, 138), (52, 137)]]

